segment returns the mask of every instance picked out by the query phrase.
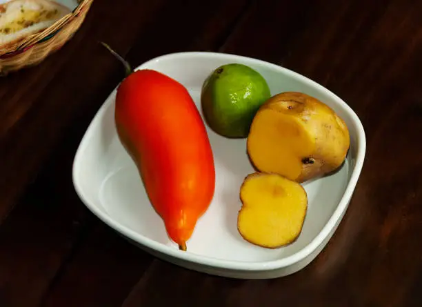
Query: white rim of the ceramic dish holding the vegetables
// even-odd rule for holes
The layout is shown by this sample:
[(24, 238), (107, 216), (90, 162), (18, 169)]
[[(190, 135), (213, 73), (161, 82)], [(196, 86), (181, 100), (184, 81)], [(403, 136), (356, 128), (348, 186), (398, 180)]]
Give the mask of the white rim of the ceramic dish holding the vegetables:
[[(301, 250), (294, 252), (294, 254), (292, 255), (283, 257), (281, 259), (270, 260), (270, 261), (235, 261), (235, 260), (219, 259), (219, 258), (214, 258), (214, 257), (197, 255), (190, 252), (183, 252), (177, 248), (166, 246), (153, 239), (145, 237), (139, 234), (139, 232), (136, 232), (130, 229), (129, 227), (124, 226), (123, 224), (120, 224), (119, 222), (115, 221), (106, 212), (102, 212), (101, 210), (99, 210), (99, 208), (97, 208), (95, 204), (90, 204), (90, 201), (88, 201), (86, 197), (84, 197), (83, 188), (79, 185), (77, 175), (79, 174), (79, 161), (81, 161), (83, 152), (86, 150), (86, 147), (88, 146), (90, 137), (92, 137), (94, 124), (97, 123), (97, 119), (99, 119), (102, 113), (106, 111), (106, 108), (108, 108), (109, 105), (112, 103), (112, 99), (120, 83), (116, 86), (116, 88), (114, 88), (114, 90), (112, 90), (112, 92), (110, 93), (106, 101), (103, 102), (103, 105), (101, 106), (101, 108), (99, 108), (99, 110), (97, 111), (97, 114), (94, 115), (92, 121), (90, 122), (90, 125), (88, 126), (85, 134), (83, 135), (83, 138), (81, 139), (81, 142), (79, 143), (79, 147), (74, 156), (74, 161), (72, 165), (72, 181), (74, 184), (74, 189), (77, 192), (77, 195), (79, 196), (83, 204), (85, 204), (88, 207), (88, 209), (91, 210), (94, 213), (94, 215), (96, 215), (101, 221), (106, 223), (111, 228), (114, 228), (114, 230), (121, 232), (121, 234), (125, 235), (126, 237), (132, 239), (133, 241), (136, 241), (138, 244), (141, 244), (145, 246), (146, 248), (156, 250), (157, 252), (160, 252), (163, 255), (168, 255), (176, 259), (196, 263), (201, 266), (211, 266), (215, 268), (243, 270), (243, 271), (275, 270), (275, 269), (291, 266), (292, 264), (295, 264), (309, 257), (310, 255), (312, 255), (312, 252), (314, 252), (319, 246), (321, 246), (321, 244), (323, 244), (323, 241), (330, 235), (330, 233), (336, 230), (336, 224), (338, 221), (341, 221), (345, 213), (345, 210), (348, 208), (350, 199), (352, 198), (354, 188), (356, 187), (357, 181), (361, 174), (361, 170), (363, 168), (363, 161), (365, 159), (366, 139), (365, 139), (365, 131), (363, 129), (361, 120), (356, 115), (354, 110), (352, 110), (352, 108), (350, 108), (350, 106), (348, 106), (348, 104), (345, 103), (345, 101), (343, 101), (343, 99), (335, 95), (333, 92), (331, 92), (327, 88), (321, 86), (319, 83), (316, 83), (312, 79), (309, 79), (308, 77), (300, 75), (299, 73), (294, 72), (293, 70), (290, 70), (288, 68), (284, 68), (282, 66), (279, 66), (274, 63), (270, 63), (268, 61), (254, 59), (252, 57), (233, 55), (230, 53), (223, 53), (223, 52), (208, 52), (208, 51), (174, 52), (174, 53), (161, 55), (159, 57), (154, 57), (148, 61), (145, 61), (141, 63), (141, 65), (137, 66), (137, 68), (134, 68), (134, 70), (147, 68), (150, 64), (157, 63), (158, 61), (177, 60), (177, 59), (187, 58), (187, 57), (188, 58), (189, 57), (202, 57), (202, 58), (212, 57), (212, 58), (220, 58), (220, 59), (225, 59), (225, 60), (230, 60), (230, 61), (241, 60), (241, 61), (247, 61), (249, 63), (254, 63), (260, 66), (267, 66), (268, 68), (272, 68), (274, 70), (279, 70), (280, 72), (282, 72), (283, 74), (285, 74), (286, 76), (290, 78), (299, 79), (299, 81), (302, 81), (303, 83), (307, 83), (308, 86), (316, 88), (322, 92), (325, 92), (326, 95), (329, 95), (330, 97), (332, 97), (332, 99), (336, 101), (336, 103), (338, 103), (340, 106), (342, 106), (342, 108), (348, 113), (348, 116), (350, 116), (350, 119), (352, 120), (353, 128), (356, 131), (357, 154), (356, 154), (354, 167), (352, 168), (352, 174), (350, 175), (350, 179), (348, 180), (348, 184), (345, 188), (343, 196), (341, 197), (339, 204), (337, 204), (334, 212), (330, 216), (330, 219), (328, 219), (327, 223), (316, 234), (316, 236), (314, 237), (314, 239), (312, 239), (312, 241), (310, 241), (305, 247), (301, 248)], [(351, 129), (351, 127), (349, 129)]]

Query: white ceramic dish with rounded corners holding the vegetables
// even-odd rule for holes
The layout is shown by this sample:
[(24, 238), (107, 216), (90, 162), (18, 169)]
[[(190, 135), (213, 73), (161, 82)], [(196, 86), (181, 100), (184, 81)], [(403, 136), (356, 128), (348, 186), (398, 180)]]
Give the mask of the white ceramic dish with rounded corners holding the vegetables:
[(244, 177), (254, 171), (245, 153), (246, 140), (225, 139), (207, 127), (217, 175), (215, 195), (188, 241), (188, 251), (178, 250), (168, 239), (163, 221), (148, 201), (134, 162), (117, 137), (115, 90), (97, 112), (77, 150), (74, 188), (94, 215), (161, 259), (225, 277), (281, 277), (309, 264), (339, 225), (363, 166), (365, 133), (359, 118), (339, 97), (310, 79), (265, 61), (212, 52), (181, 52), (157, 57), (137, 69), (159, 70), (177, 79), (200, 106), (205, 77), (218, 66), (234, 62), (261, 72), (272, 95), (295, 90), (321, 99), (343, 117), (350, 129), (350, 151), (341, 170), (304, 184), (309, 207), (301, 235), (294, 244), (270, 250), (241, 238), (237, 231), (239, 188)]

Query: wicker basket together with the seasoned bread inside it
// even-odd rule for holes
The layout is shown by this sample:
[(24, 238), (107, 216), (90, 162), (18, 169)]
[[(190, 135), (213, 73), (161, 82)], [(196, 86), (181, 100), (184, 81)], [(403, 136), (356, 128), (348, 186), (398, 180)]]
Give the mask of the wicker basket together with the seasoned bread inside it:
[(37, 65), (59, 50), (77, 32), (92, 1), (78, 0), (74, 10), (51, 0), (0, 5), (0, 75)]

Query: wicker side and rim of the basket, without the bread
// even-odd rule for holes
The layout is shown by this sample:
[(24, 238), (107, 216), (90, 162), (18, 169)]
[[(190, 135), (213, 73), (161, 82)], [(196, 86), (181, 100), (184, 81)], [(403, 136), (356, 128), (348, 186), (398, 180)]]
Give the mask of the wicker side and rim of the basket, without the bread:
[(78, 0), (79, 6), (52, 26), (32, 34), (0, 51), (0, 75), (41, 63), (63, 46), (79, 30), (93, 0)]

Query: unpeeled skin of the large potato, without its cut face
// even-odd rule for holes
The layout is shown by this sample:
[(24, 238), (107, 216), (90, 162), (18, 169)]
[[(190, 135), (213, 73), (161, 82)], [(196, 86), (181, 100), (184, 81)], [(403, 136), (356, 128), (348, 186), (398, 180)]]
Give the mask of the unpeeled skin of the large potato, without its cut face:
[[(268, 99), (255, 117), (268, 109), (300, 119), (314, 139), (314, 152), (309, 157), (301, 157), (301, 174), (295, 181), (301, 183), (328, 174), (343, 164), (350, 147), (350, 135), (345, 122), (332, 108), (302, 92), (281, 92)], [(251, 160), (253, 162), (253, 157)]]

